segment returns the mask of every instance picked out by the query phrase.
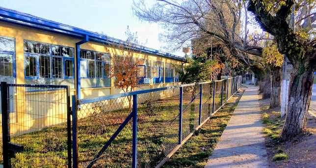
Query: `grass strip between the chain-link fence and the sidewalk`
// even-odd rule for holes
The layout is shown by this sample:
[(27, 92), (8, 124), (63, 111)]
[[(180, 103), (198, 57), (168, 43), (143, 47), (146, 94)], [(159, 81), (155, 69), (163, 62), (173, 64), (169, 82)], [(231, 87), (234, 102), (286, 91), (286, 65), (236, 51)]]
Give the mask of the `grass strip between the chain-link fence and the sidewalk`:
[(163, 168), (204, 168), (212, 150), (220, 139), (222, 132), (232, 113), (237, 107), (238, 101), (226, 104), (216, 112), (201, 129), (187, 140), (186, 143), (163, 165)]

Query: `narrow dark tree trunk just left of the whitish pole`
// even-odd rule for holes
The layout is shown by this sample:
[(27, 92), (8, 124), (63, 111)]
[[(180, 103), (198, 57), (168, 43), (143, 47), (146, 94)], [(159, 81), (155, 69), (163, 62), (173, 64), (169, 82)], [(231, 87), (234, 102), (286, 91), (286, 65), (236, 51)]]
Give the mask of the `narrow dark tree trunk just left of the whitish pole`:
[(281, 82), (282, 82), (282, 68), (272, 68), (270, 72), (271, 81), (271, 96), (270, 109), (279, 107), (281, 104)]

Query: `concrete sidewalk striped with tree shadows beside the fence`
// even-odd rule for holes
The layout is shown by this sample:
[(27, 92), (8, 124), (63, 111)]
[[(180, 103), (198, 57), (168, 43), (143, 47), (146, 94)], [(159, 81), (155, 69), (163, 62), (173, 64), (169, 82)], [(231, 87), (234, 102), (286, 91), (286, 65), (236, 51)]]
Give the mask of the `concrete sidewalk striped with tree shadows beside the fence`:
[(247, 85), (205, 168), (268, 168), (258, 87)]

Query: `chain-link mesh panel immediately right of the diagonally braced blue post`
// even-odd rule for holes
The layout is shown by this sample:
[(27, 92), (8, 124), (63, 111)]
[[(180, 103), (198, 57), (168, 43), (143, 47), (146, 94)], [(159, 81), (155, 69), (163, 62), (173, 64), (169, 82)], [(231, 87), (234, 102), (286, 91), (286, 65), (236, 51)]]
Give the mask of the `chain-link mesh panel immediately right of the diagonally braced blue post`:
[(179, 142), (180, 88), (137, 95), (137, 168), (154, 168)]

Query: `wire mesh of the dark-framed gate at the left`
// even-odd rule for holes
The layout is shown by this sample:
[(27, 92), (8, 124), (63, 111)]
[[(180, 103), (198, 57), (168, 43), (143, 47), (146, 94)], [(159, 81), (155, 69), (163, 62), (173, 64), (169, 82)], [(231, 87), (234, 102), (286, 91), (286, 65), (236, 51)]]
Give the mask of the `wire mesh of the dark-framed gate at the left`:
[(10, 143), (24, 147), (13, 168), (68, 167), (67, 87), (8, 84)]

